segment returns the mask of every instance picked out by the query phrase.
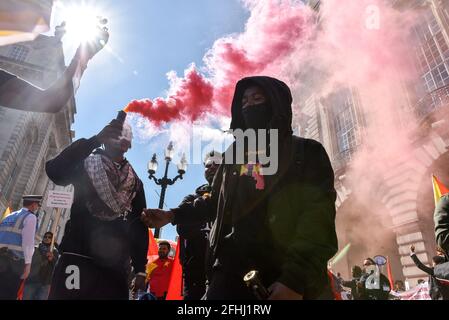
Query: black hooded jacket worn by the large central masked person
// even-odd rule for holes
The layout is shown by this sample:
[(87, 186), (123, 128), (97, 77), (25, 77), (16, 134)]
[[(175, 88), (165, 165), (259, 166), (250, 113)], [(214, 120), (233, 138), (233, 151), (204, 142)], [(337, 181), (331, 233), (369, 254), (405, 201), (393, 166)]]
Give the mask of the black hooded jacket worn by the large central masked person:
[[(264, 177), (266, 188), (257, 203), (245, 207), (238, 203), (248, 185), (240, 166), (219, 167), (209, 204), (216, 209), (203, 211), (215, 218), (209, 264), (218, 263), (242, 277), (254, 268), (266, 286), (279, 281), (315, 299), (328, 284), (327, 261), (338, 247), (334, 173), (320, 143), (292, 136), (292, 96), (279, 80), (252, 77), (237, 83), (231, 129), (245, 129), (241, 100), (252, 84), (264, 89), (272, 107), (270, 128), (279, 129), (279, 170)], [(175, 215), (175, 223), (187, 219)]]

